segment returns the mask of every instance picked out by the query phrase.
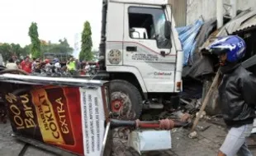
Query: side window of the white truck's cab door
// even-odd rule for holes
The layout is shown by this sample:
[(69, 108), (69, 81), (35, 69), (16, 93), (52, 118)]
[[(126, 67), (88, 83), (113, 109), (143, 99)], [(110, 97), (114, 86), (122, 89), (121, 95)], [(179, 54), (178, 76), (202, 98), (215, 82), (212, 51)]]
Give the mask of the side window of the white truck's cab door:
[[(164, 9), (150, 7), (130, 7), (129, 26), (130, 30), (144, 29), (147, 33), (144, 39), (156, 39), (159, 48), (170, 48), (170, 40), (164, 37), (164, 23), (166, 17)], [(135, 29), (136, 28), (136, 29)], [(137, 32), (140, 34), (140, 32)], [(130, 33), (130, 38), (135, 35)], [(137, 35), (138, 36), (138, 35)], [(141, 36), (141, 35), (140, 35)], [(141, 37), (140, 37), (141, 39)]]

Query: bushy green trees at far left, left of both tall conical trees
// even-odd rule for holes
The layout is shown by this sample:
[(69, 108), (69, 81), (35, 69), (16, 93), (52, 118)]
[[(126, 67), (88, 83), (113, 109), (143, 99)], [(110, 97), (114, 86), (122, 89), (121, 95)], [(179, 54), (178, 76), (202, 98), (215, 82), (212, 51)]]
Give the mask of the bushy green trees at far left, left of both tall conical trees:
[(0, 53), (2, 54), (3, 60), (7, 61), (12, 56), (17, 57), (25, 57), (30, 53), (30, 49), (27, 48), (21, 48), (20, 44), (1, 44), (0, 45)]

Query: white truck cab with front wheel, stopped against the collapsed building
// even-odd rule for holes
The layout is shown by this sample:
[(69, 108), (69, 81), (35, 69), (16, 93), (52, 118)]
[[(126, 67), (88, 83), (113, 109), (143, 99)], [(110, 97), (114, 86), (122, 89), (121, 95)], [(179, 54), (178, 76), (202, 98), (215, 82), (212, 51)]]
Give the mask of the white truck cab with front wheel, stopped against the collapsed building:
[(179, 102), (183, 48), (168, 0), (103, 0), (100, 71), (111, 112), (138, 118), (143, 108)]

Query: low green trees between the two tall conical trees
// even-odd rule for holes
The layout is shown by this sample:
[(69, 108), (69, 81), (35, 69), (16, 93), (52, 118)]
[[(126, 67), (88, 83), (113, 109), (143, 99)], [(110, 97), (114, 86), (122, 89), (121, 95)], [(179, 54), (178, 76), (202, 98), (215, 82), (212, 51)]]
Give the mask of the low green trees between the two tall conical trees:
[(51, 44), (50, 41), (48, 44), (41, 45), (42, 53), (73, 53), (73, 48), (69, 46), (67, 39), (59, 39), (59, 44)]

